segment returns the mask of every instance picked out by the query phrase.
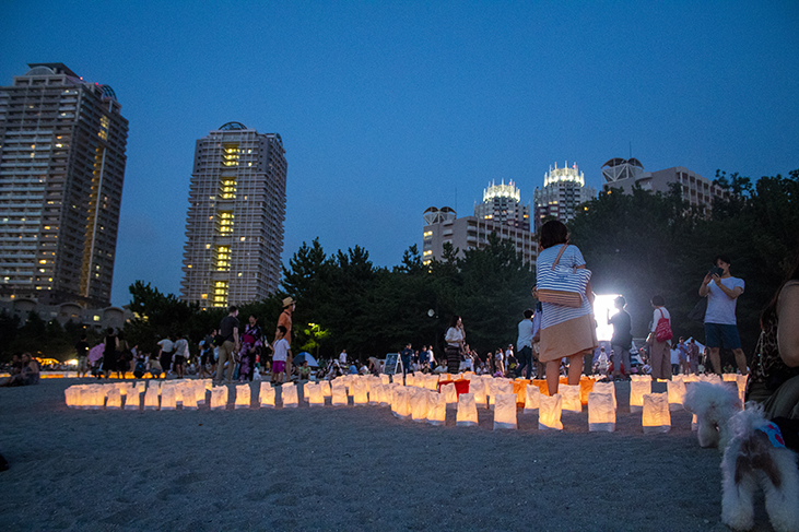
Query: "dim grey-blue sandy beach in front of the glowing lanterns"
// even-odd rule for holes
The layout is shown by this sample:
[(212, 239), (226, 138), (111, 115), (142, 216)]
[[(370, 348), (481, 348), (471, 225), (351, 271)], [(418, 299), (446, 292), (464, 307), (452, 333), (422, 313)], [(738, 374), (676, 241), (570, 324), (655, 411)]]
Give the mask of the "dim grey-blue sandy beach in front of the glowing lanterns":
[[(401, 421), (380, 406), (86, 411), (63, 390), (0, 389), (4, 530), (721, 531), (720, 453), (691, 415), (644, 435), (618, 383), (614, 433)], [(662, 390), (659, 388), (662, 387)], [(256, 388), (256, 387), (254, 387)], [(665, 385), (655, 383), (654, 391)], [(254, 395), (257, 390), (254, 390)], [(772, 530), (762, 496), (757, 531)]]

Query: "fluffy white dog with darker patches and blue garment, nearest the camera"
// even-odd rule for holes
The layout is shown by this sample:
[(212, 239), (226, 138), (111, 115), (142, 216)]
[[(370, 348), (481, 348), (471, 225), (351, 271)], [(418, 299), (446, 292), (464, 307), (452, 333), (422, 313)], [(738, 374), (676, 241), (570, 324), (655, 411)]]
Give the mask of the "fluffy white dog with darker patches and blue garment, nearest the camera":
[(733, 530), (754, 525), (754, 494), (763, 487), (766, 511), (777, 532), (799, 531), (799, 469), (776, 425), (756, 403), (729, 419), (731, 439), (724, 451), (721, 521)]

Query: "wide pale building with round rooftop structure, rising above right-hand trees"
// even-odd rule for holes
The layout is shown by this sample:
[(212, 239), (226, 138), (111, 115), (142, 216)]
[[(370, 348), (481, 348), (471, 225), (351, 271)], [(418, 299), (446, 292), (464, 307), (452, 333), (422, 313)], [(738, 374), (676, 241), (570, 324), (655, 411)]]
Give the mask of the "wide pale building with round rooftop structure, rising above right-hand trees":
[(602, 189), (621, 189), (631, 193), (638, 185), (649, 192), (668, 193), (672, 184), (680, 184), (682, 198), (692, 206), (697, 206), (709, 215), (715, 198), (728, 198), (729, 191), (709, 179), (683, 166), (674, 166), (657, 172), (644, 172), (644, 165), (636, 158), (612, 158), (602, 165)]

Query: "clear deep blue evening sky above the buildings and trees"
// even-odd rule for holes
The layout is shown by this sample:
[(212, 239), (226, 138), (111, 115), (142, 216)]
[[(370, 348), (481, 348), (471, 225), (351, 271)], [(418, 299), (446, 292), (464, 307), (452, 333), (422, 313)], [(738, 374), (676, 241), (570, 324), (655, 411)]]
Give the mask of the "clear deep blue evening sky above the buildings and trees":
[(631, 143), (647, 170), (799, 168), (794, 0), (3, 0), (0, 85), (28, 62), (130, 120), (115, 305), (179, 294), (195, 141), (227, 121), (283, 138), (284, 263), (319, 237), (395, 265), (426, 208), (469, 215), (502, 179), (530, 202), (554, 163), (599, 189)]

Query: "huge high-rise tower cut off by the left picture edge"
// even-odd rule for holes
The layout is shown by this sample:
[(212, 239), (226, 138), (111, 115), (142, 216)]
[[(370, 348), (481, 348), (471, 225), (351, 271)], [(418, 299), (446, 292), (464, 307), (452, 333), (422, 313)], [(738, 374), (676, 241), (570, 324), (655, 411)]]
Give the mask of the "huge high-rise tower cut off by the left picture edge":
[(62, 63), (0, 87), (0, 297), (107, 306), (128, 120)]

